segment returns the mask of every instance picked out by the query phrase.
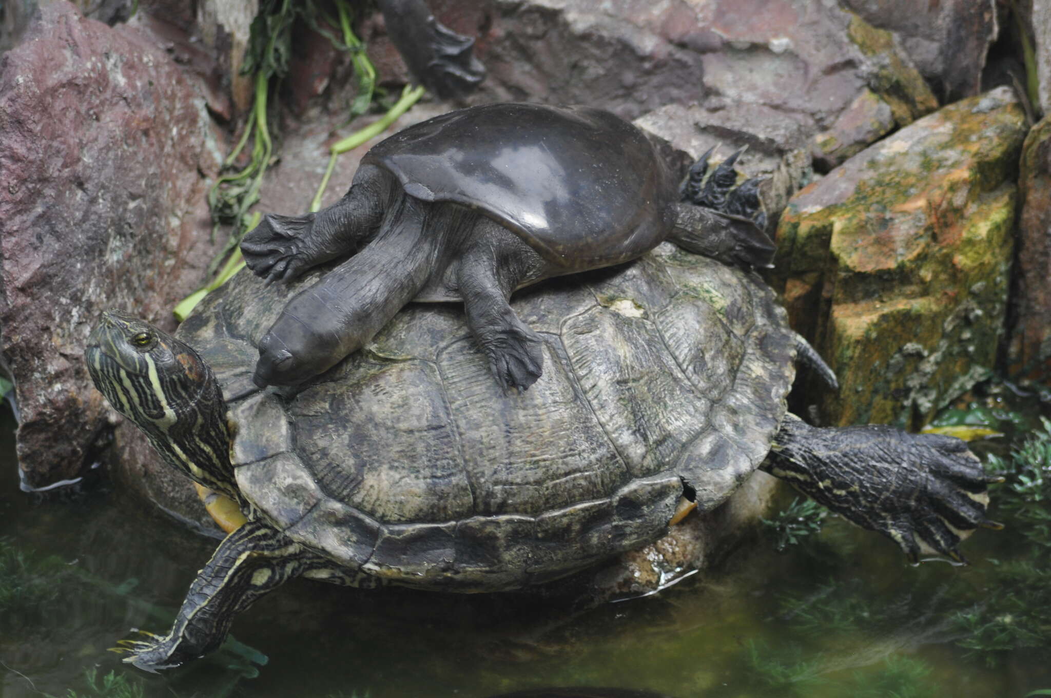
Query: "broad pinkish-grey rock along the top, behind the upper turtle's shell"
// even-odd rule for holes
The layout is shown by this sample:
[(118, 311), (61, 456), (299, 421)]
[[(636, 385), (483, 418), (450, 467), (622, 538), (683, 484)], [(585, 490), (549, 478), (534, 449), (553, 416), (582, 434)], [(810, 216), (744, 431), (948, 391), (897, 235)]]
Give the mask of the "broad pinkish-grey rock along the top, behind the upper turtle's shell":
[[(435, 15), (476, 36), (486, 82), (473, 102), (586, 103), (635, 119), (668, 104), (710, 111), (764, 105), (823, 130), (865, 89), (936, 106), (920, 74), (859, 18), (808, 0), (433, 0)], [(877, 46), (872, 33), (885, 35)], [(370, 35), (380, 75), (405, 79)], [(396, 71), (395, 71), (396, 70)], [(892, 78), (888, 76), (893, 75)]]

